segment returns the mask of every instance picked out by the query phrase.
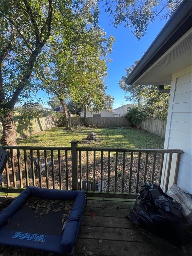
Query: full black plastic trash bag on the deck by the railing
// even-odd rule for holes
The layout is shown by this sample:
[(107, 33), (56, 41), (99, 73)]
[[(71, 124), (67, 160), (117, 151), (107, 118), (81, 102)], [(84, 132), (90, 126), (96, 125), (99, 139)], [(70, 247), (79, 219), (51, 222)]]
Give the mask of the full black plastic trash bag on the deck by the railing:
[(182, 206), (163, 190), (147, 182), (141, 186), (130, 213), (126, 215), (134, 224), (156, 235), (181, 245), (184, 241)]

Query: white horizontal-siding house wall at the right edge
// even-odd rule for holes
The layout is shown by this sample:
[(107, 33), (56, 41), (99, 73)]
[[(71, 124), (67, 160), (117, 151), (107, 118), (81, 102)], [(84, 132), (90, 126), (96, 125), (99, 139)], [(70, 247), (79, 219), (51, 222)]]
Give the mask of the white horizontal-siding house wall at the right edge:
[[(177, 185), (191, 193), (192, 180), (192, 143), (191, 143), (191, 66), (178, 71), (172, 76), (167, 128), (164, 148), (182, 149)], [(173, 185), (176, 155), (173, 154), (169, 187)], [(164, 160), (161, 187), (164, 189), (168, 166), (168, 155)]]

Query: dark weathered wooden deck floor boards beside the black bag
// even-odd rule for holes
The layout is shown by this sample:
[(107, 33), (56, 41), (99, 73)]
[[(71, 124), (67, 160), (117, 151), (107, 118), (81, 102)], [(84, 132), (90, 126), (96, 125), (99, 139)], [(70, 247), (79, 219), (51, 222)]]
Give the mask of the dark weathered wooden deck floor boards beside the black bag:
[(121, 200), (87, 200), (74, 256), (191, 255), (189, 245), (178, 248), (146, 230), (135, 227), (125, 218), (134, 200)]

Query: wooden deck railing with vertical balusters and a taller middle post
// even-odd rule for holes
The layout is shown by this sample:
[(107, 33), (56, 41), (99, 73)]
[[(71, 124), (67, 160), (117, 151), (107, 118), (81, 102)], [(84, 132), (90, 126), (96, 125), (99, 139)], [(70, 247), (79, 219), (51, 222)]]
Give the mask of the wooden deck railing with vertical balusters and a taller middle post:
[[(169, 154), (165, 190), (168, 189), (173, 154), (177, 157), (174, 177), (176, 183), (180, 156), (183, 153), (182, 150), (175, 149), (78, 147), (78, 141), (72, 141), (71, 147), (2, 148), (8, 152), (9, 161), (3, 172), (5, 182), (2, 183), (0, 192), (17, 193), (21, 189), (16, 188), (25, 188), (29, 185), (77, 190), (78, 184), (79, 189), (82, 189), (81, 181), (86, 180), (87, 193), (90, 196), (96, 194), (110, 197), (112, 194), (113, 197), (133, 198), (138, 193), (139, 182), (151, 181), (157, 185), (161, 184), (165, 154)], [(34, 166), (33, 157), (37, 159), (37, 166)], [(42, 159), (45, 163), (43, 175)], [(48, 161), (51, 161), (50, 167), (47, 165)], [(100, 191), (89, 191), (88, 181), (93, 182), (94, 188), (96, 184), (100, 184)]]

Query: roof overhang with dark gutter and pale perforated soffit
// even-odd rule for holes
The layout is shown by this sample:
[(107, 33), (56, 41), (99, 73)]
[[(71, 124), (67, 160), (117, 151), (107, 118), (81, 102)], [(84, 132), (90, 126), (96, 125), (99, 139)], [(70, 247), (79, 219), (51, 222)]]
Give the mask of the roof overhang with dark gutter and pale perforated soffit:
[(171, 84), (172, 74), (191, 65), (191, 1), (183, 1), (133, 69), (126, 84)]

